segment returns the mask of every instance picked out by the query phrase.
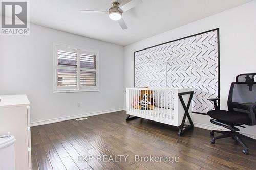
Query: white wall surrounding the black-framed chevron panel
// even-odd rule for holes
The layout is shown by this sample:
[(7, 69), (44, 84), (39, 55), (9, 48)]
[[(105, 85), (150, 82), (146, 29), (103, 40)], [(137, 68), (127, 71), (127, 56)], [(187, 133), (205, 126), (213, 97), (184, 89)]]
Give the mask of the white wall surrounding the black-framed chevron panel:
[[(220, 95), (221, 109), (227, 109), (230, 83), (242, 72), (256, 72), (256, 1), (189, 23), (180, 28), (130, 44), (124, 48), (124, 88), (134, 86), (134, 52), (146, 47), (220, 28)], [(170, 16), (172, 17), (172, 16)], [(175, 17), (175, 16), (173, 16)], [(155, 26), (157, 27), (157, 26)], [(124, 98), (125, 108), (125, 98)], [(197, 126), (214, 128), (209, 116), (193, 114)], [(211, 126), (211, 127), (209, 127)], [(254, 135), (256, 127), (241, 128)]]

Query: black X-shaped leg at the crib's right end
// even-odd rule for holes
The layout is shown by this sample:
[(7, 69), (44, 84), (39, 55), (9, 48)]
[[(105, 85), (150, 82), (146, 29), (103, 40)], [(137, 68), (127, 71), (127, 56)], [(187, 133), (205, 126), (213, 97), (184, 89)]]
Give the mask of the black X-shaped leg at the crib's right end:
[[(182, 98), (182, 95), (187, 95), (187, 94), (190, 94), (189, 96), (189, 100), (188, 100), (188, 103), (187, 105), (185, 104), (183, 98)], [(180, 136), (182, 133), (184, 133), (185, 131), (187, 131), (188, 129), (191, 129), (194, 127), (194, 124), (192, 122), (192, 119), (188, 113), (188, 109), (190, 107), (190, 104), (191, 104), (191, 101), (192, 101), (192, 98), (193, 98), (193, 94), (194, 92), (193, 91), (189, 91), (189, 92), (184, 92), (184, 93), (179, 93), (179, 99), (180, 99), (180, 102), (185, 110), (185, 113), (184, 113), (184, 116), (183, 116), (183, 119), (182, 119), (182, 123), (181, 125), (179, 126), (179, 132), (178, 132), (178, 136)], [(190, 125), (185, 125), (185, 120), (186, 120), (186, 117), (188, 118), (189, 120), (189, 123)]]

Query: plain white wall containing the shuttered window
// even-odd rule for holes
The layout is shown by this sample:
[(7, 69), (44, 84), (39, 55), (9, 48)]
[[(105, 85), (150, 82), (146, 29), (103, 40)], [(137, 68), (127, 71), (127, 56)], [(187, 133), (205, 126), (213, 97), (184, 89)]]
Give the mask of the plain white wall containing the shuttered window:
[[(31, 122), (123, 108), (122, 46), (38, 25), (30, 29), (29, 36), (0, 36), (0, 95), (27, 94)], [(99, 51), (99, 92), (53, 93), (53, 42)]]

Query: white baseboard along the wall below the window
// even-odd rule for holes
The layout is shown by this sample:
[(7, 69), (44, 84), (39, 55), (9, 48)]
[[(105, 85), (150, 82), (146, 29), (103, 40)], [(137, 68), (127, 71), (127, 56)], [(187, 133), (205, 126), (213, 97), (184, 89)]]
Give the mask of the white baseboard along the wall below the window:
[(48, 120), (40, 120), (40, 121), (36, 121), (36, 122), (31, 122), (30, 126), (32, 127), (32, 126), (38, 126), (38, 125), (52, 124), (52, 123), (61, 122), (61, 121), (65, 121), (65, 120), (72, 120), (72, 119), (77, 119), (77, 118), (82, 118), (82, 117), (95, 116), (95, 115), (99, 115), (99, 114), (112, 113), (112, 112), (117, 112), (117, 111), (122, 111), (122, 110), (123, 110), (123, 108), (105, 110), (105, 111), (93, 112), (93, 113), (86, 113), (86, 114), (79, 114), (79, 115), (74, 115), (74, 116), (53, 118), (53, 119), (48, 119)]

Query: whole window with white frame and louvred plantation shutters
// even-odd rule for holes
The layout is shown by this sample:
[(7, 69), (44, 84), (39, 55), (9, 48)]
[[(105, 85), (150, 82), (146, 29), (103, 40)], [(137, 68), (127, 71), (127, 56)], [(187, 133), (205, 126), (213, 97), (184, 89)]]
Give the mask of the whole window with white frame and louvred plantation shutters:
[(98, 53), (54, 45), (54, 92), (98, 90)]

